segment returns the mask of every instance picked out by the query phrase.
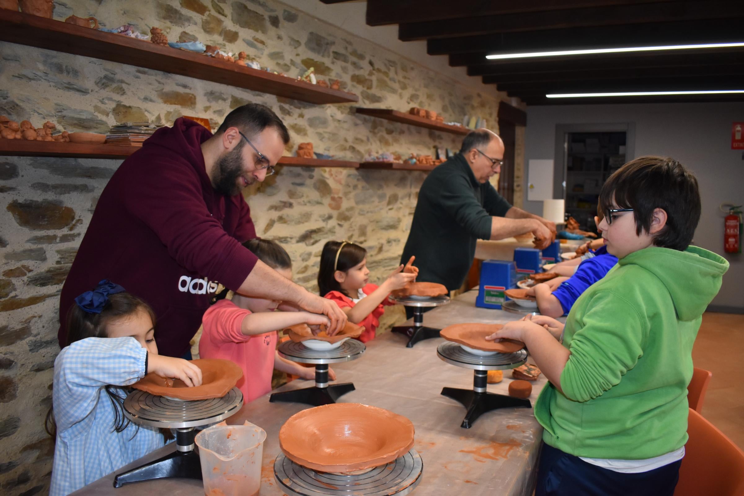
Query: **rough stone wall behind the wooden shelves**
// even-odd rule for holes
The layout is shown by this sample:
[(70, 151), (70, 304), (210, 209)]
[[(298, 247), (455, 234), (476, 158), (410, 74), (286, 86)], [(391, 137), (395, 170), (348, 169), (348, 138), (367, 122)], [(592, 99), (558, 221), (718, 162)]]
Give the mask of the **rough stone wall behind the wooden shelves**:
[[(106, 1), (55, 3), (55, 19), (95, 16), (102, 25), (158, 26), (170, 40), (199, 39), (297, 76), (314, 67), (359, 94), (360, 105), (406, 110), (425, 106), (446, 120), (481, 115), (498, 131), (498, 100), (463, 82), (385, 51), (272, 0)], [(0, 115), (51, 120), (64, 130), (106, 132), (126, 121), (170, 124), (208, 117), (213, 129), (248, 102), (271, 106), (298, 142), (359, 160), (367, 152), (432, 153), (458, 149), (461, 137), (358, 116), (352, 105), (315, 106), (189, 77), (114, 62), (0, 43)], [(522, 156), (522, 150), (517, 150)], [(42, 428), (51, 404), (62, 282), (98, 196), (121, 161), (0, 157), (0, 488), (7, 495), (48, 489), (53, 444)], [(283, 167), (246, 198), (257, 233), (280, 242), (295, 280), (314, 290), (318, 255), (328, 239), (368, 248), (372, 279), (400, 257), (421, 172)], [(517, 183), (519, 184), (519, 182)], [(387, 322), (400, 318), (389, 312)], [(384, 324), (384, 322), (383, 322)]]

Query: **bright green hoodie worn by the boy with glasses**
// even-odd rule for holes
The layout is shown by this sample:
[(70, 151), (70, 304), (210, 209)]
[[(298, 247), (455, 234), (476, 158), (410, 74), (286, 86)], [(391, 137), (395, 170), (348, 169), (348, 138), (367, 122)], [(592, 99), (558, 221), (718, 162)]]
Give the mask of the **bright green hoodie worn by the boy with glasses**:
[(702, 313), (728, 270), (695, 246), (618, 261), (568, 314), (560, 376), (535, 405), (548, 445), (579, 457), (643, 460), (687, 442), (687, 384)]

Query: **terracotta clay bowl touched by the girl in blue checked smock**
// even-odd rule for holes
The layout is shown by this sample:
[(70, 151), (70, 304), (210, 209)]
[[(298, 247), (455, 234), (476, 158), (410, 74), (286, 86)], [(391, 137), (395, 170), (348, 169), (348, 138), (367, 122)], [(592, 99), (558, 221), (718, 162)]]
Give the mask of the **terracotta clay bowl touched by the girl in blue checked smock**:
[(222, 398), (228, 393), (238, 379), (243, 377), (243, 370), (234, 362), (217, 358), (202, 358), (191, 363), (202, 370), (202, 385), (188, 387), (180, 379), (167, 379), (155, 373), (149, 373), (140, 381), (132, 384), (135, 389), (147, 391), (155, 396), (167, 396), (184, 400)]

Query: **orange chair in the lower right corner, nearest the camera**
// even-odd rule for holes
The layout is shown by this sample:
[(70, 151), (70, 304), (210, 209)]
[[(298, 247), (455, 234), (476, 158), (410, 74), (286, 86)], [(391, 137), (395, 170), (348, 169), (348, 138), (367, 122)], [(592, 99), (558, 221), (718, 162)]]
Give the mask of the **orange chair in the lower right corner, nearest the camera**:
[(744, 495), (744, 451), (692, 408), (687, 434), (674, 496)]

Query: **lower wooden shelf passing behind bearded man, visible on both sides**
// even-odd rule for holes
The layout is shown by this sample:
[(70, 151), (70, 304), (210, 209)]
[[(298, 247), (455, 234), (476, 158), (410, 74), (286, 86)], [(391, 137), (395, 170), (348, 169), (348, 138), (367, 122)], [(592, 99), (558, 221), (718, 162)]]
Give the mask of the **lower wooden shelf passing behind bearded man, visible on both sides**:
[[(0, 155), (13, 157), (127, 158), (140, 146), (89, 145), (0, 139)], [(318, 158), (282, 157), (277, 165), (285, 167), (346, 167), (359, 169), (359, 162), (320, 160)]]

